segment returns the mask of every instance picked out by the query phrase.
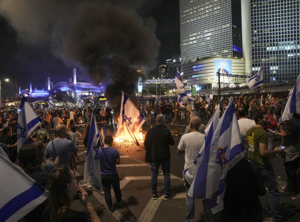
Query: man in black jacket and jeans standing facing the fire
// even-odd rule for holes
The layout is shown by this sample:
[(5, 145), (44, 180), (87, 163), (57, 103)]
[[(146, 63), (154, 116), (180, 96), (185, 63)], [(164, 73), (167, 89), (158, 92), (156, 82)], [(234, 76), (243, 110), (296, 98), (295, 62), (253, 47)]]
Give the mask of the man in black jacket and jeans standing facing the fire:
[(145, 162), (151, 163), (151, 191), (152, 199), (157, 199), (157, 177), (159, 166), (163, 168), (164, 172), (164, 199), (170, 199), (170, 146), (174, 145), (175, 141), (170, 132), (164, 125), (166, 117), (158, 115), (156, 117), (156, 126), (150, 128), (145, 137), (146, 157)]

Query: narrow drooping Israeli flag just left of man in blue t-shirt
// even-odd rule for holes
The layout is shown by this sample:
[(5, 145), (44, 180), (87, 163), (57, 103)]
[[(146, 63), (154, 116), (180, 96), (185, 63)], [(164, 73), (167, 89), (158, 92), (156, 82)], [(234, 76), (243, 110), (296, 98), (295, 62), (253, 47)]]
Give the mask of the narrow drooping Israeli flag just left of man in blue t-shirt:
[(98, 191), (101, 188), (101, 168), (99, 158), (99, 129), (94, 111), (91, 115), (91, 125), (88, 134), (88, 147), (84, 169), (84, 180), (93, 185)]

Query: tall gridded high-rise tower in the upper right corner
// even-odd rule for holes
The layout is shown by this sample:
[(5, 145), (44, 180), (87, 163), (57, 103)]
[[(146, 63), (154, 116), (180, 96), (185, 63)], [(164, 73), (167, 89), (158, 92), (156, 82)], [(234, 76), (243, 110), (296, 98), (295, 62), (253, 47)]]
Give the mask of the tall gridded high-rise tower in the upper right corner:
[(300, 71), (298, 0), (242, 0), (246, 72), (264, 67), (264, 82), (295, 81)]

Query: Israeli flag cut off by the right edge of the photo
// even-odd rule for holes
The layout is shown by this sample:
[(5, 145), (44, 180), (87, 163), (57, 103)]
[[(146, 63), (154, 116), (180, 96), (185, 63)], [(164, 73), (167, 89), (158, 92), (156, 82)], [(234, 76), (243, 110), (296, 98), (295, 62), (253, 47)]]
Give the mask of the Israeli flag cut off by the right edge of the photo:
[(294, 113), (300, 112), (300, 74), (294, 87), (289, 91), (286, 106), (280, 117), (279, 122), (292, 119)]

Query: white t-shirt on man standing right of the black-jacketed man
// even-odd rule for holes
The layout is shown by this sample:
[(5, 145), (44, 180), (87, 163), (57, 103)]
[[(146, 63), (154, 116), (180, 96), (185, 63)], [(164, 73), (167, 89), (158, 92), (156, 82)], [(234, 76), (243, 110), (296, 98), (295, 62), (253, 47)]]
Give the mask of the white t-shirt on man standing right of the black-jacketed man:
[(178, 149), (181, 151), (184, 150), (184, 170), (196, 159), (204, 141), (205, 135), (199, 132), (190, 132), (182, 135)]

